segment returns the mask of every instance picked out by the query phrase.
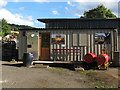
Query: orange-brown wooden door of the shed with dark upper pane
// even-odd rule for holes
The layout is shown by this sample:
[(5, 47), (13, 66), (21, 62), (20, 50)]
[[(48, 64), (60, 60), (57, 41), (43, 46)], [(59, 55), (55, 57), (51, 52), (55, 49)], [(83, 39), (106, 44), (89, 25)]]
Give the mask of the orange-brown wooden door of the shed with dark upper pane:
[(40, 60), (50, 59), (50, 33), (40, 33), (39, 58)]

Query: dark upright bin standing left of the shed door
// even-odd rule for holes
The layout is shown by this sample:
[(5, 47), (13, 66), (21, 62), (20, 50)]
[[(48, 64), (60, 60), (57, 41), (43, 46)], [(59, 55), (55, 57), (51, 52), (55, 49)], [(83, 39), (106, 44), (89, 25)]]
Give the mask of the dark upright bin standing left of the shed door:
[(30, 66), (30, 65), (32, 65), (32, 61), (33, 61), (33, 54), (24, 53), (24, 55), (23, 55), (23, 65), (24, 66)]

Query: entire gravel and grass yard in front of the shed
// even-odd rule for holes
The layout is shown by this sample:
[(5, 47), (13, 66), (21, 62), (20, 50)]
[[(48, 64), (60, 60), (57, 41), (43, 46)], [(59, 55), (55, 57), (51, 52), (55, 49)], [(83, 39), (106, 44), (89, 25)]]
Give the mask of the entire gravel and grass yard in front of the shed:
[(26, 68), (2, 62), (3, 88), (99, 88), (118, 86), (118, 69), (71, 71), (63, 68)]

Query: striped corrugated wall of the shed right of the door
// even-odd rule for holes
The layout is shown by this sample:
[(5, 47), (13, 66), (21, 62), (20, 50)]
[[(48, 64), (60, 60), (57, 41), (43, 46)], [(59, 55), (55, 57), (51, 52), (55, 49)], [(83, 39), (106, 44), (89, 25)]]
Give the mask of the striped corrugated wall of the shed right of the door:
[[(95, 33), (111, 33), (111, 44), (95, 44)], [(51, 59), (54, 60), (64, 60), (64, 61), (83, 61), (84, 55), (87, 53), (95, 53), (96, 55), (99, 55), (101, 53), (101, 49), (107, 49), (109, 50), (109, 56), (110, 59), (113, 59), (113, 52), (114, 52), (114, 39), (113, 39), (113, 29), (84, 29), (84, 30), (59, 30), (59, 31), (51, 31), (52, 34), (65, 34), (65, 45), (62, 47), (60, 44), (50, 44), (51, 48)], [(78, 50), (80, 52), (80, 55), (77, 56), (76, 54), (74, 56), (73, 53), (71, 55), (58, 55), (55, 56), (55, 53), (53, 53), (53, 49), (80, 49)], [(59, 50), (58, 50), (59, 51)], [(67, 54), (67, 53), (58, 53), (58, 54)], [(54, 57), (55, 56), (55, 57)]]

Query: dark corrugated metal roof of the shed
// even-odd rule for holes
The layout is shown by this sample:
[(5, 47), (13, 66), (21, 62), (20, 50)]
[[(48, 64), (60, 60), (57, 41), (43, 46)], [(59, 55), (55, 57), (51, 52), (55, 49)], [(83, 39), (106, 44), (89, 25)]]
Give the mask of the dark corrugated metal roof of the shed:
[(120, 34), (120, 18), (49, 18), (38, 20), (46, 23), (46, 27), (23, 30), (118, 29)]

